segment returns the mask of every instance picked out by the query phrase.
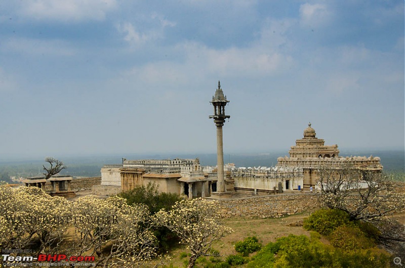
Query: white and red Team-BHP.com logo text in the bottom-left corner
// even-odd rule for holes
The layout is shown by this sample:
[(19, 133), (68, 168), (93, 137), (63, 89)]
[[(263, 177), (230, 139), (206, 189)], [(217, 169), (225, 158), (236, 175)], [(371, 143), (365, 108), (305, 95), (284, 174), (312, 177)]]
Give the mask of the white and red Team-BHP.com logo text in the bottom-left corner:
[(41, 262), (41, 261), (94, 261), (95, 256), (67, 256), (65, 254), (39, 254), (38, 257), (33, 256), (11, 256), (10, 254), (2, 254), (3, 262)]

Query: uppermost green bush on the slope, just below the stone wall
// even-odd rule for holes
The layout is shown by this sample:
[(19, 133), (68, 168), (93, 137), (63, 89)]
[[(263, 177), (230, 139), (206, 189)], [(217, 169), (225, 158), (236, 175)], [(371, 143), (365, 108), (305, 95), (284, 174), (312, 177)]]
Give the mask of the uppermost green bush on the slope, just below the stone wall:
[(349, 223), (349, 214), (340, 209), (319, 209), (304, 219), (304, 228), (329, 235), (336, 228)]

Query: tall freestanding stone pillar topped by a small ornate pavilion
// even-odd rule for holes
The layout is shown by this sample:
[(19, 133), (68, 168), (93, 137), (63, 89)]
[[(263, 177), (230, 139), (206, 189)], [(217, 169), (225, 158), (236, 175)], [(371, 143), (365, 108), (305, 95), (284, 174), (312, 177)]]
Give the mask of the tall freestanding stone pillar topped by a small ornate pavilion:
[(217, 126), (217, 167), (218, 167), (218, 181), (217, 192), (212, 192), (211, 196), (216, 198), (230, 197), (231, 193), (226, 192), (226, 185), (224, 179), (224, 149), (222, 142), (222, 126), (225, 123), (226, 118), (230, 118), (230, 115), (225, 115), (225, 106), (229, 101), (226, 100), (226, 96), (221, 89), (220, 81), (218, 81), (218, 88), (215, 91), (215, 95), (212, 97), (212, 105), (214, 106), (214, 115), (210, 115), (210, 118), (214, 118), (214, 123)]

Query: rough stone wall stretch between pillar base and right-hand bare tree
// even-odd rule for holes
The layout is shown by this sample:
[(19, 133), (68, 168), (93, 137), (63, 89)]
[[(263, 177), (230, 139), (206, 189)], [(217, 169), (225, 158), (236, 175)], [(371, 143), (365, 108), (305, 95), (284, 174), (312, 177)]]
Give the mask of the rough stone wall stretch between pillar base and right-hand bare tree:
[(222, 217), (282, 217), (319, 206), (314, 194), (283, 194), (215, 200)]

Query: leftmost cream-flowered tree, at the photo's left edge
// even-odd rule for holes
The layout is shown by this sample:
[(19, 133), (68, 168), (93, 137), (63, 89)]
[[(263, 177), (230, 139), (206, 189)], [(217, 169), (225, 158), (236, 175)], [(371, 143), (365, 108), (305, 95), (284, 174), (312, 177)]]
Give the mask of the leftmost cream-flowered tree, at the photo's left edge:
[(5, 220), (2, 229), (7, 230), (2, 248), (39, 244), (39, 252), (54, 253), (64, 239), (65, 218), (70, 215), (65, 198), (51, 197), (36, 187), (0, 186), (0, 217)]

